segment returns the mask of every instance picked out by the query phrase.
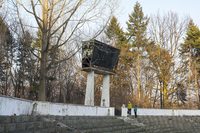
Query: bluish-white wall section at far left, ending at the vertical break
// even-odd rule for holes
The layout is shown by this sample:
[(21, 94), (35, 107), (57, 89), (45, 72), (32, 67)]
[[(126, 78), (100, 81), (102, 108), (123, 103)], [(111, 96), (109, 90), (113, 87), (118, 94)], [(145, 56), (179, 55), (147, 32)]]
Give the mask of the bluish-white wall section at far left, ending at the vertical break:
[(0, 95), (0, 115), (31, 114), (32, 101)]

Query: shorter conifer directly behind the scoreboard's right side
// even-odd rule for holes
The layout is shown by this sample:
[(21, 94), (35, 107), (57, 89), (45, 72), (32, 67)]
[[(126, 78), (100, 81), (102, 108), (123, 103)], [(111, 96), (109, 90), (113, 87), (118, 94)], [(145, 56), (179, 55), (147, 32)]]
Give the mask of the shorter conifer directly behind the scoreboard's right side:
[[(111, 80), (111, 105), (116, 109), (120, 109), (121, 105), (128, 101), (127, 92), (129, 91), (130, 84), (128, 81), (128, 65), (126, 62), (127, 55), (127, 39), (123, 29), (120, 27), (118, 20), (115, 16), (110, 20), (109, 25), (106, 28), (105, 34), (107, 38), (115, 44), (117, 48), (121, 50), (118, 61), (118, 67), (116, 68), (116, 75), (112, 76)], [(122, 71), (123, 69), (123, 71)], [(119, 84), (120, 83), (120, 84)], [(119, 97), (121, 97), (119, 99)]]

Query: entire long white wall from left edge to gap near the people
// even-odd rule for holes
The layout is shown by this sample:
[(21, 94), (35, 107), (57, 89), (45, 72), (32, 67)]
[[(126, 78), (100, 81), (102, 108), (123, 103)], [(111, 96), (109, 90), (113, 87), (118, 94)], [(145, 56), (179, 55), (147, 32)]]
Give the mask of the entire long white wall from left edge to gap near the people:
[(114, 116), (114, 108), (29, 101), (0, 95), (0, 115)]

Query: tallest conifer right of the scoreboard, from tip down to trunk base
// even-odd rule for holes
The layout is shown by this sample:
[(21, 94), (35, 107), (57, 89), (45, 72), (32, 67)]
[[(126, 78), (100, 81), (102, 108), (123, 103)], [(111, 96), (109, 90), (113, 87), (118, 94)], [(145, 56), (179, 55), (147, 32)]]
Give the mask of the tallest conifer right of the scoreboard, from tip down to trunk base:
[[(133, 69), (136, 73), (137, 82), (137, 98), (138, 104), (142, 103), (142, 84), (141, 84), (141, 72), (142, 72), (142, 56), (145, 44), (147, 44), (146, 39), (146, 29), (149, 22), (149, 18), (144, 16), (142, 7), (138, 2), (136, 2), (133, 12), (129, 15), (129, 20), (127, 21), (127, 38), (130, 43), (130, 49), (133, 52)], [(135, 47), (135, 48), (134, 48)], [(131, 75), (134, 77), (134, 75)]]

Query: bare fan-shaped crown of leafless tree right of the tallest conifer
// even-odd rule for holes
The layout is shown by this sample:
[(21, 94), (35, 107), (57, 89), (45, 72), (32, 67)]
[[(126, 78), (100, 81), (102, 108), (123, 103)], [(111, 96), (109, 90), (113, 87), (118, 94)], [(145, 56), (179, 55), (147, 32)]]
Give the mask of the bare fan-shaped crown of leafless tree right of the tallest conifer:
[(149, 36), (175, 58), (178, 55), (178, 48), (186, 32), (188, 22), (188, 17), (181, 19), (177, 13), (170, 11), (161, 16), (158, 12), (157, 15), (151, 16)]

